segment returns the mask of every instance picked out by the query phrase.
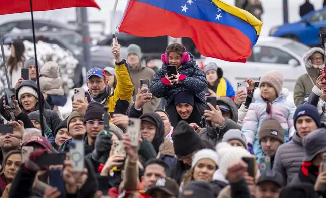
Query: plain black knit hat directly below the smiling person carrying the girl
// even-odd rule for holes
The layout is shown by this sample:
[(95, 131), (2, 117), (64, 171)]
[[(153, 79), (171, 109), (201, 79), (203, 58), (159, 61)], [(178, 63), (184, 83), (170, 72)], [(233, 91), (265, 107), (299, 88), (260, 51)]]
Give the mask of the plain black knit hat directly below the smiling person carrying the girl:
[(187, 156), (202, 149), (203, 143), (195, 130), (185, 121), (180, 121), (174, 130), (173, 147), (177, 156)]

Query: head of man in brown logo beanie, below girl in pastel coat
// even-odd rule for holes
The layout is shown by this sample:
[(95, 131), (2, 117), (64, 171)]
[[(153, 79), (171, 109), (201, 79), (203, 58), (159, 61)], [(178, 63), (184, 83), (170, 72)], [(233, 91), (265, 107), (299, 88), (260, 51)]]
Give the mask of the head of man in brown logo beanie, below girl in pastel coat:
[(276, 151), (284, 143), (284, 133), (281, 124), (277, 120), (263, 122), (259, 129), (258, 140), (264, 155), (271, 157), (271, 165), (273, 167)]

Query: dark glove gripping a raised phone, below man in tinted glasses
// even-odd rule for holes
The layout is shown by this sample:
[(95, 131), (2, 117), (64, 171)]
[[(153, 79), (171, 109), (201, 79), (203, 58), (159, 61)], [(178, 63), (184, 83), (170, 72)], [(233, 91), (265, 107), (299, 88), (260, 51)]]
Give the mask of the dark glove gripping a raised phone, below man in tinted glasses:
[[(103, 156), (104, 153), (107, 153), (109, 156), (111, 146), (112, 146), (112, 134), (110, 132), (107, 132), (105, 130), (102, 130), (96, 137), (95, 139), (95, 149), (92, 151), (92, 159), (100, 162), (101, 157)], [(101, 160), (103, 161), (103, 160)], [(105, 164), (106, 159), (103, 162)]]

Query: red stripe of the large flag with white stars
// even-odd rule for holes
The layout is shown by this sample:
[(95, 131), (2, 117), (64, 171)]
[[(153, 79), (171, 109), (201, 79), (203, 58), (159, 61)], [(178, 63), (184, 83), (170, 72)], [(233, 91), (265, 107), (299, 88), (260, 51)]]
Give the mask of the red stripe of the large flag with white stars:
[(203, 56), (226, 61), (246, 62), (251, 55), (250, 39), (236, 28), (186, 17), (138, 1), (128, 5), (119, 31), (144, 37), (189, 37)]

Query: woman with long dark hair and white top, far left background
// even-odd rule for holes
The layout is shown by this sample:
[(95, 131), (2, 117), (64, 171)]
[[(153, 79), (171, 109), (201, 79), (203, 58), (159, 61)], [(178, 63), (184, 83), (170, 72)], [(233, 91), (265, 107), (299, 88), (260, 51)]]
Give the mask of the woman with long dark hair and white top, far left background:
[(15, 40), (10, 46), (10, 57), (7, 59), (7, 67), (9, 72), (9, 80), (14, 86), (21, 78), (21, 69), (24, 68), (25, 61), (25, 45), (21, 40)]

